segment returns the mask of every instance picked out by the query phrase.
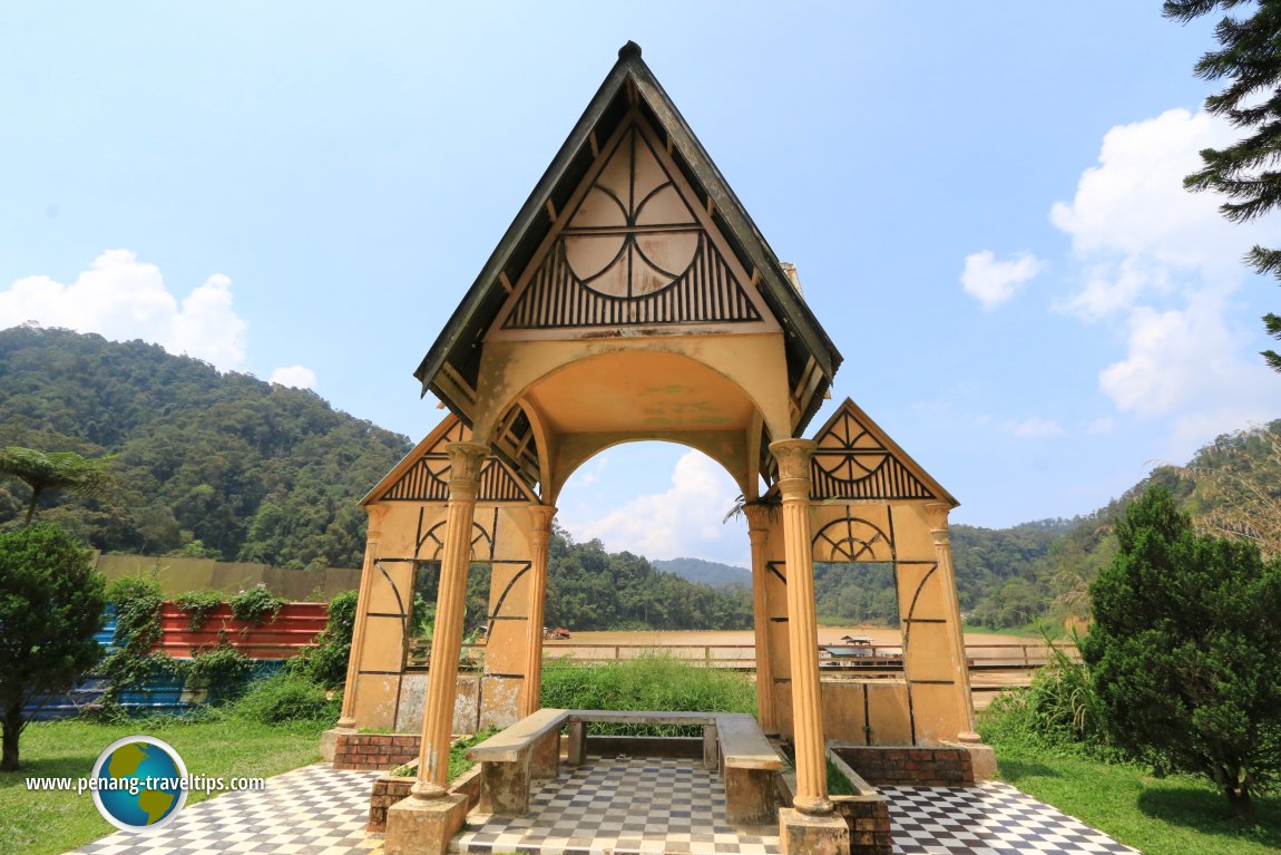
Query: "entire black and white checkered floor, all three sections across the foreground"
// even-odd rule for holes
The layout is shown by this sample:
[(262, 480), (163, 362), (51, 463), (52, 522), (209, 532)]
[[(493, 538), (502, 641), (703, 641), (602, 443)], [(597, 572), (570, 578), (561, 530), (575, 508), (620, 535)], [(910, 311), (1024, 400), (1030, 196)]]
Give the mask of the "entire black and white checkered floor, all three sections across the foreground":
[[(269, 778), (260, 792), (229, 792), (184, 808), (151, 834), (117, 833), (78, 855), (377, 855), (365, 836), (378, 773), (328, 765)], [(883, 787), (895, 855), (1130, 855), (1127, 846), (1009, 784)], [(532, 799), (529, 815), (473, 814), (460, 852), (774, 855), (776, 828), (733, 829), (724, 786), (698, 763), (598, 759), (564, 768)]]

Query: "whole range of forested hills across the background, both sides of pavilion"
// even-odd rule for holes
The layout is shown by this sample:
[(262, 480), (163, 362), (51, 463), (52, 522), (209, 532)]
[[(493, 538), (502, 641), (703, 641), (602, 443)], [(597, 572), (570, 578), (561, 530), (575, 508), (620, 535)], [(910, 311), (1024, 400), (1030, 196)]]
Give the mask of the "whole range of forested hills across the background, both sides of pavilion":
[[(0, 446), (117, 454), (104, 499), (47, 495), (41, 518), (104, 551), (184, 552), (278, 567), (360, 567), (356, 501), (410, 441), (333, 410), (310, 391), (220, 374), (141, 341), (64, 329), (0, 331)], [(1182, 468), (1162, 467), (1108, 506), (1073, 520), (1004, 529), (953, 526), (961, 609), (971, 623), (1020, 626), (1084, 615), (1086, 588), (1114, 549), (1112, 522), (1152, 483), (1168, 486), (1203, 529), (1243, 533), (1281, 554), (1281, 422), (1220, 437)], [(29, 491), (0, 481), (0, 524)], [(749, 615), (735, 573), (692, 559), (649, 563), (598, 542), (559, 547), (548, 619), (570, 627), (728, 627)], [(728, 573), (728, 576), (726, 576)], [(749, 586), (751, 574), (738, 570)], [(893, 623), (888, 568), (815, 568), (829, 622)], [(744, 610), (746, 609), (746, 610)]]

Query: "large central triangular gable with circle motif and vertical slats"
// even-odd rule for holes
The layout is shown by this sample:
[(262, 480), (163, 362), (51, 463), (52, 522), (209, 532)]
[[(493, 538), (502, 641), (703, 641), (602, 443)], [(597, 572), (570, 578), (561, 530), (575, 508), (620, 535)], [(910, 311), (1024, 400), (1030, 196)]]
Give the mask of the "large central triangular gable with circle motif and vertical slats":
[(653, 128), (632, 110), (556, 217), (489, 337), (706, 324), (779, 329)]

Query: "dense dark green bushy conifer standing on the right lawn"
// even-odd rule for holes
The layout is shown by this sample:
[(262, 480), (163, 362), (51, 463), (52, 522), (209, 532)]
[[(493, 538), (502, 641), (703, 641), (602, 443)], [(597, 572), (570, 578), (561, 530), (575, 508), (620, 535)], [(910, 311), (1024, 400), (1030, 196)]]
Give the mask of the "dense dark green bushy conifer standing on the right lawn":
[(1196, 535), (1163, 487), (1116, 527), (1081, 642), (1114, 745), (1209, 778), (1237, 817), (1281, 783), (1281, 564)]

